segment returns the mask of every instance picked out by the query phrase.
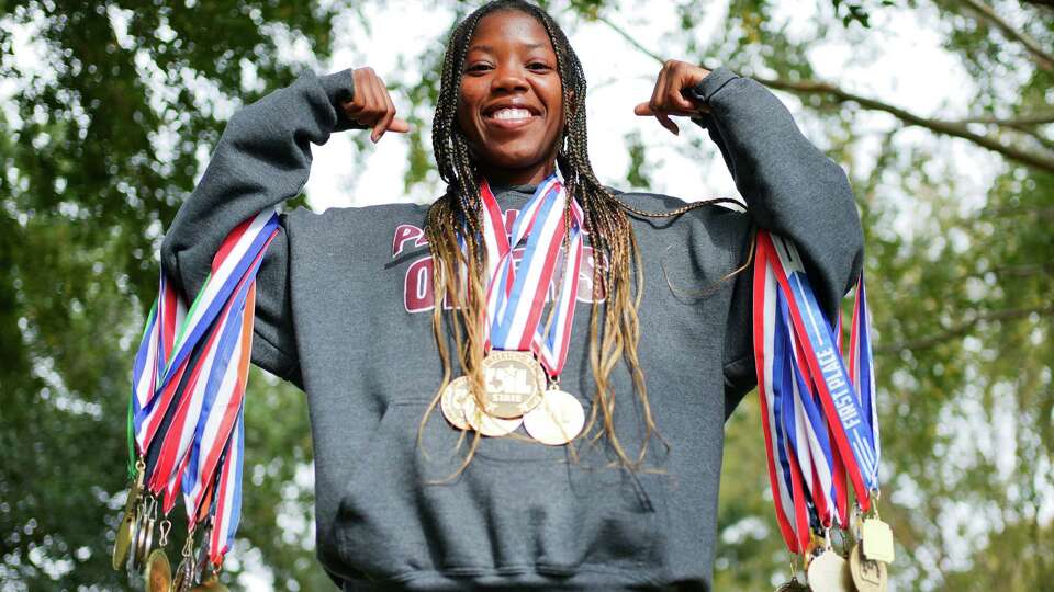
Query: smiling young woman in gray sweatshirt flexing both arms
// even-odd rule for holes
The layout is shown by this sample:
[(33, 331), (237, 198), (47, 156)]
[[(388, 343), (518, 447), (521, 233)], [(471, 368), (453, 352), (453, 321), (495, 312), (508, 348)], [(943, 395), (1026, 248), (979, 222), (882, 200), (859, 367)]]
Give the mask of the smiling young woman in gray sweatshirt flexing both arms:
[[(345, 590), (709, 588), (724, 422), (754, 385), (752, 229), (797, 243), (833, 312), (862, 259), (853, 194), (761, 84), (675, 60), (636, 114), (704, 126), (747, 212), (605, 187), (585, 96), (549, 15), (492, 2), (444, 61), (433, 138), (446, 193), (282, 216), (257, 278), (253, 362), (307, 394), (318, 554)], [(232, 228), (300, 192), (311, 145), (349, 128), (374, 141), (406, 130), (369, 68), (305, 73), (231, 118), (162, 246), (188, 297)], [(575, 204), (561, 219), (588, 247), (558, 378), (588, 421), (567, 445), (480, 437), (433, 411), (459, 376), (490, 388), (481, 203), (492, 195), (513, 226), (558, 170)]]

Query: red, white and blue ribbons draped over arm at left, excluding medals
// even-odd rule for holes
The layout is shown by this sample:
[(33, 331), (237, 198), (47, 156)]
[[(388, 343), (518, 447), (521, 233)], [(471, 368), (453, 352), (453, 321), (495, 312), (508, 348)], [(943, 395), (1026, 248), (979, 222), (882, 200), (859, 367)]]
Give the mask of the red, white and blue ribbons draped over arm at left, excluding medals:
[(191, 530), (212, 509), (216, 565), (238, 524), (256, 274), (278, 231), (274, 210), (232, 230), (190, 307), (162, 265), (160, 294), (133, 366), (132, 455), (146, 462), (146, 487), (161, 497), (166, 514), (180, 491)]

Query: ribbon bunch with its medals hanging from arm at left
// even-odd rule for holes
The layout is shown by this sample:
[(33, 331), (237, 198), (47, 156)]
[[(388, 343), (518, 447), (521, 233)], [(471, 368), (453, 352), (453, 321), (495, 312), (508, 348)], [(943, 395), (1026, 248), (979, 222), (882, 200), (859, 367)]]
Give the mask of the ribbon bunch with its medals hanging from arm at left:
[[(147, 590), (218, 585), (216, 574), (240, 513), (243, 401), (253, 351), (256, 274), (278, 231), (274, 210), (232, 230), (189, 307), (161, 266), (159, 295), (133, 366), (133, 486), (113, 553), (114, 569), (142, 573)], [(180, 497), (189, 532), (173, 573), (165, 547), (168, 516)], [(204, 535), (195, 555), (193, 539), (200, 532)]]

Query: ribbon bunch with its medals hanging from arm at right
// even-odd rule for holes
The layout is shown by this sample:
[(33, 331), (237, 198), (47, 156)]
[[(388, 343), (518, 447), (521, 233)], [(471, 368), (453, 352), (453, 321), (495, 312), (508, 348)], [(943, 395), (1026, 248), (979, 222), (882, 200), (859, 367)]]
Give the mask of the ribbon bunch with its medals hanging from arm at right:
[[(792, 242), (759, 231), (753, 273), (754, 358), (769, 478), (780, 532), (807, 571), (807, 578), (792, 579), (781, 590), (852, 590), (834, 582), (841, 569), (855, 570), (855, 589), (882, 590), (893, 538), (876, 508), (881, 448), (863, 274), (846, 365), (840, 316), (828, 320)], [(832, 545), (832, 533), (840, 548)]]

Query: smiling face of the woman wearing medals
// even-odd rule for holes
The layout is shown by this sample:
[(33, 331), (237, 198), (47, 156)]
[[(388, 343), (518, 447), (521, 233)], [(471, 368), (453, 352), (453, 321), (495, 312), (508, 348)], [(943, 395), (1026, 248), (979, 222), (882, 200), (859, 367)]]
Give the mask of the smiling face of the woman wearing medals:
[(563, 90), (545, 26), (519, 11), (487, 14), (464, 58), (458, 125), (492, 181), (538, 183), (554, 170)]

